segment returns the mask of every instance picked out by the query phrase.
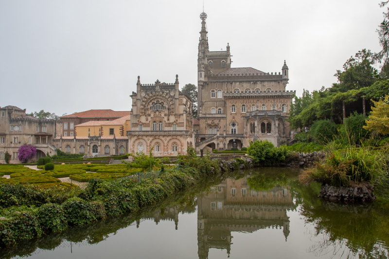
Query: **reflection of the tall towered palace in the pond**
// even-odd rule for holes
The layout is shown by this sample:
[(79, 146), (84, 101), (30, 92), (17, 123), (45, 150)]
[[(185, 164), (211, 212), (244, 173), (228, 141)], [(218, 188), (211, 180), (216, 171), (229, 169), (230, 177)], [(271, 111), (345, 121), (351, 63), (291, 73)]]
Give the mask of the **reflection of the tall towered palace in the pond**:
[(250, 190), (247, 178), (227, 179), (212, 191), (197, 198), (197, 240), (199, 259), (208, 258), (210, 248), (227, 249), (230, 255), (231, 232), (254, 232), (264, 228), (283, 229), (289, 235), (286, 210), (294, 209), (288, 189)]

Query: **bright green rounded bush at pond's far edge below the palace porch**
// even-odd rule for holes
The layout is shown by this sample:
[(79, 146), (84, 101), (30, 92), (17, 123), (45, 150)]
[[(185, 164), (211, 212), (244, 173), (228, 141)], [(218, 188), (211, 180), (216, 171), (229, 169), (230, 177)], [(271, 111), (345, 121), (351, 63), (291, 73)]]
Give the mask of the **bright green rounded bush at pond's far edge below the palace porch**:
[(256, 140), (250, 143), (247, 153), (258, 165), (276, 165), (285, 161), (289, 151), (286, 146), (275, 147), (267, 140)]

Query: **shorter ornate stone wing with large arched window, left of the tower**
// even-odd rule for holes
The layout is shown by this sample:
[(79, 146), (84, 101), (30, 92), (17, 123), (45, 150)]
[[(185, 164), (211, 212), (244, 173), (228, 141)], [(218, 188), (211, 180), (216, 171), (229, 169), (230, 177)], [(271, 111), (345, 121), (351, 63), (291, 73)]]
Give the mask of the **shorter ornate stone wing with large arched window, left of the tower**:
[(173, 156), (186, 153), (194, 145), (192, 100), (179, 91), (178, 75), (175, 83), (141, 84), (133, 92), (131, 130), (127, 131), (129, 152), (155, 156)]

